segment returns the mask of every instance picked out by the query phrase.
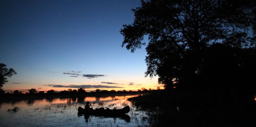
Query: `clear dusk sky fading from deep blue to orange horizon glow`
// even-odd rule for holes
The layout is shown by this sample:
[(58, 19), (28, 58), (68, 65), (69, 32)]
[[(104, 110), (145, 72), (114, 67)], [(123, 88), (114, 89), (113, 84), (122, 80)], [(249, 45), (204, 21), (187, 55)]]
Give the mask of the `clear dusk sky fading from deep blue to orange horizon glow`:
[[(16, 75), (5, 91), (156, 89), (145, 46), (122, 48), (120, 29), (140, 0), (1, 0), (0, 63)], [(144, 42), (148, 42), (145, 38)]]

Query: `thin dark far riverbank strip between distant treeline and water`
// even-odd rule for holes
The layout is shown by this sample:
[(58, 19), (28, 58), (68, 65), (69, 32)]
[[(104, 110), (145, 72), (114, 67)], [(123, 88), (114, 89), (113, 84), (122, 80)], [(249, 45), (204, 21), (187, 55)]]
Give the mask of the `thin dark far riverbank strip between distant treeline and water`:
[(76, 97), (105, 97), (105, 96), (128, 96), (138, 94), (149, 94), (149, 92), (113, 93), (113, 94), (84, 94), (84, 95), (27, 95), (27, 96), (0, 96), (0, 102), (11, 102), (21, 100), (41, 100), (52, 98), (76, 98)]

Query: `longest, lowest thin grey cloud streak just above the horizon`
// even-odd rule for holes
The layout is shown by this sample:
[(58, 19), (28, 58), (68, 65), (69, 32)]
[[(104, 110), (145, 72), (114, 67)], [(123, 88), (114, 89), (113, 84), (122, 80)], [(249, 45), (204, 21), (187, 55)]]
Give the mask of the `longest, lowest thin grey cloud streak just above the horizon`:
[(106, 85), (44, 85), (56, 88), (123, 88), (117, 86), (106, 86)]

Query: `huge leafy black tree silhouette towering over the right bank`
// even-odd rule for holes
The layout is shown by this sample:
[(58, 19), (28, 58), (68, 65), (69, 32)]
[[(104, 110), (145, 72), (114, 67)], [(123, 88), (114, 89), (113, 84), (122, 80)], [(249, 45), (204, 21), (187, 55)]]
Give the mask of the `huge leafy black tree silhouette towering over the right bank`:
[(225, 84), (229, 88), (241, 78), (246, 79), (239, 83), (253, 86), (248, 78), (255, 76), (250, 64), (255, 63), (255, 5), (254, 0), (141, 1), (132, 9), (134, 22), (120, 31), (122, 46), (134, 52), (146, 45), (142, 40), (148, 35), (145, 75), (159, 76), (166, 88), (174, 83), (207, 88), (211, 83), (210, 90), (221, 89), (216, 85), (232, 80)]

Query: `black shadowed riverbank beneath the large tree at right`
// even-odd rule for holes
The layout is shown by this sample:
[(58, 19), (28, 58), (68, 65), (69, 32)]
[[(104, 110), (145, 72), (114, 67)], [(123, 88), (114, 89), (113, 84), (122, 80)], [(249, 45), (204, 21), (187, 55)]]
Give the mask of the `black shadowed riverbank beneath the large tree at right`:
[(140, 110), (148, 112), (151, 126), (255, 127), (256, 125), (255, 102), (231, 99), (223, 94), (202, 96), (200, 92), (192, 94), (155, 91), (128, 100)]

